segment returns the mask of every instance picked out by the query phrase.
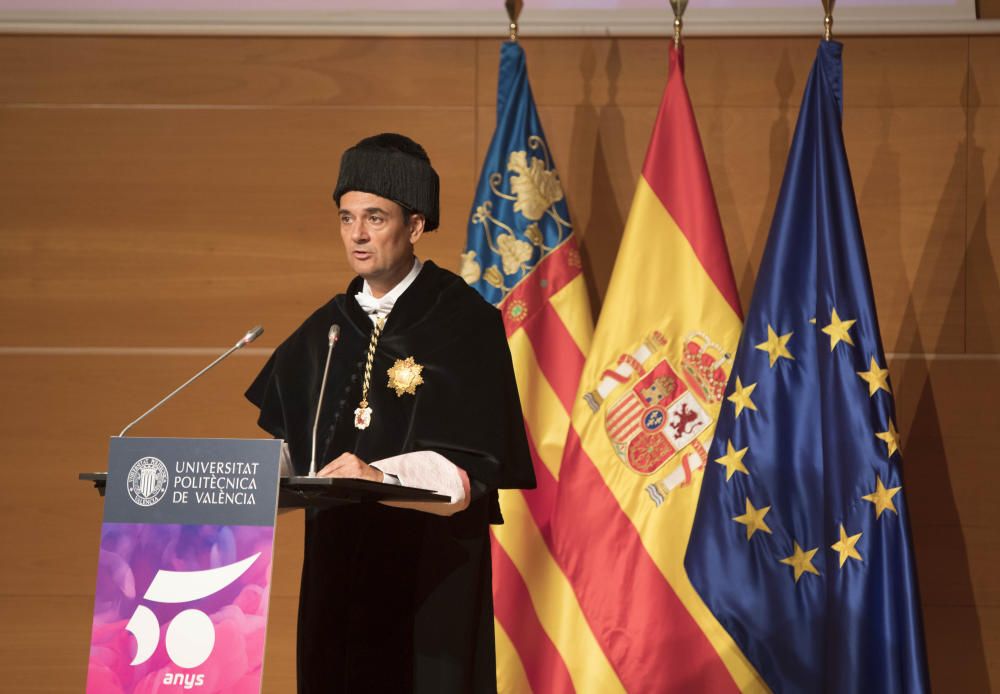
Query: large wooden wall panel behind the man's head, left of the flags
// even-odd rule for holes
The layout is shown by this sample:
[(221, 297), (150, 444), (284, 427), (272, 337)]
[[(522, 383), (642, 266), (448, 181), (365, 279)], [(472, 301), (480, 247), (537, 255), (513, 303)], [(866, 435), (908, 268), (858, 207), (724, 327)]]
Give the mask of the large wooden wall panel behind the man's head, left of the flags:
[[(6, 345), (264, 344), (346, 286), (330, 199), (340, 152), (405, 129), (442, 175), (453, 267), (472, 195), (470, 109), (4, 109)], [(447, 235), (444, 242), (441, 236)], [(453, 252), (452, 252), (453, 251)]]

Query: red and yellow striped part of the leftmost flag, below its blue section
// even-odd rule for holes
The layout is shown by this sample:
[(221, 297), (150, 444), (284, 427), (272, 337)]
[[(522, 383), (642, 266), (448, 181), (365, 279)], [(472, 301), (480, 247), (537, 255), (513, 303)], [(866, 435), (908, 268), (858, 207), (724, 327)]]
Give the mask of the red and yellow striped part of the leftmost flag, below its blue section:
[(502, 491), (504, 525), (493, 529), (498, 686), (502, 692), (621, 691), (551, 552), (559, 465), (593, 333), (575, 240), (547, 255), (500, 309), (538, 486)]

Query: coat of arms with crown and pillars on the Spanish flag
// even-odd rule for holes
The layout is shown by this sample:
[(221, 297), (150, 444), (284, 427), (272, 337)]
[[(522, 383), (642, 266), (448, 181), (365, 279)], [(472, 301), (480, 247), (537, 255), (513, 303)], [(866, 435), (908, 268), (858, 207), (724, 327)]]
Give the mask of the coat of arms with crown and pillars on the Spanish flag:
[[(704, 467), (707, 441), (729, 378), (731, 356), (707, 335), (684, 340), (679, 363), (667, 357), (667, 340), (654, 332), (639, 347), (618, 357), (584, 400), (597, 413), (605, 400), (604, 427), (611, 448), (633, 472), (666, 476), (646, 491), (659, 506), (672, 489), (688, 484)], [(622, 386), (627, 386), (622, 392)], [(671, 465), (672, 461), (676, 464)]]

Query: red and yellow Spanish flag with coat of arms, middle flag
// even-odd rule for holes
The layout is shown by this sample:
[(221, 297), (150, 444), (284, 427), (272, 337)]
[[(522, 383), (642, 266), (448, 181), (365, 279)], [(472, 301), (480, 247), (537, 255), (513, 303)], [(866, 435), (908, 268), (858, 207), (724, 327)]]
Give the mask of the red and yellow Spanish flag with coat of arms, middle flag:
[(552, 521), (557, 557), (619, 690), (759, 686), (683, 566), (740, 325), (683, 55), (671, 45)]

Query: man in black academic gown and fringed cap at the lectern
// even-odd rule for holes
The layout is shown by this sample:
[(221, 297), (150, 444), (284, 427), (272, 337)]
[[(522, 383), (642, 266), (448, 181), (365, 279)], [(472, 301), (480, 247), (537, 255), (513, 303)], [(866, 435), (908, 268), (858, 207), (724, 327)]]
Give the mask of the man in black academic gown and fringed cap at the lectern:
[(321, 475), (434, 489), (449, 504), (355, 504), (306, 515), (300, 692), (496, 691), (489, 523), (499, 488), (535, 483), (499, 312), (414, 255), (438, 225), (438, 177), (402, 135), (362, 140), (333, 197), (356, 277), (281, 346), (247, 391), (262, 428)]

